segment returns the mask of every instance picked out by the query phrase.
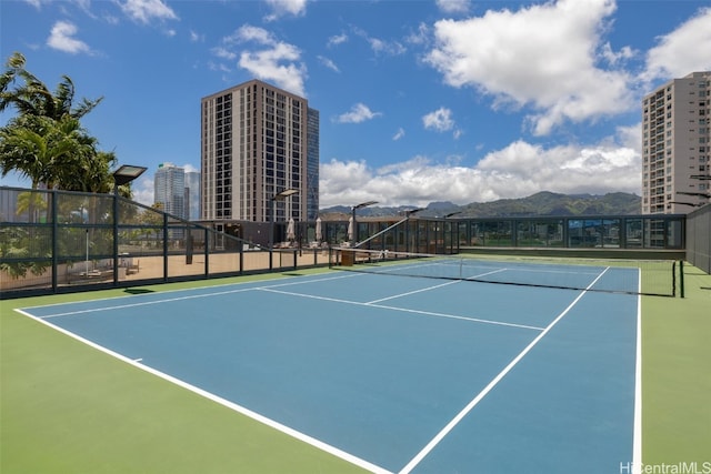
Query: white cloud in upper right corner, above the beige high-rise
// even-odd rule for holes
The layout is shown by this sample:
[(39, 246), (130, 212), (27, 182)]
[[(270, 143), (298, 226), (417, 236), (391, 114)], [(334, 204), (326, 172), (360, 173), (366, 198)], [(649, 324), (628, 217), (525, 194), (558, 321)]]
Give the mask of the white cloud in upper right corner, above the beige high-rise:
[(658, 46), (647, 52), (643, 78), (665, 80), (710, 69), (711, 8), (703, 8), (677, 30), (658, 39)]

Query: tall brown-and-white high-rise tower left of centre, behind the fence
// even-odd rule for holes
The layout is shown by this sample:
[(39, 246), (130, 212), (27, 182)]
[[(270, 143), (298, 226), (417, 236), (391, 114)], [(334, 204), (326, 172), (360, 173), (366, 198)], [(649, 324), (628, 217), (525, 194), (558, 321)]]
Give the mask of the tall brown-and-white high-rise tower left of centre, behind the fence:
[[(201, 220), (316, 219), (319, 113), (259, 80), (201, 101)], [(274, 201), (278, 193), (299, 192)]]

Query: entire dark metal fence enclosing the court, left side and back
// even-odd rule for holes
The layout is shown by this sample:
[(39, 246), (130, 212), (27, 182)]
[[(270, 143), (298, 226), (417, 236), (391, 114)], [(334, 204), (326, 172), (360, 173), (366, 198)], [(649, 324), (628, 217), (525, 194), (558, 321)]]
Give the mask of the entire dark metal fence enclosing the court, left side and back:
[(197, 223), (114, 194), (0, 186), (0, 299), (328, 265), (329, 248), (351, 240), (363, 249), (421, 253), (533, 248), (679, 254), (690, 242), (695, 260), (709, 258), (708, 210), (694, 218), (692, 231), (683, 215), (417, 218), (393, 225), (399, 221), (362, 218), (352, 239), (348, 220), (299, 222), (290, 242), (281, 242), (283, 223), (274, 223), (272, 249), (263, 240), (271, 224)]

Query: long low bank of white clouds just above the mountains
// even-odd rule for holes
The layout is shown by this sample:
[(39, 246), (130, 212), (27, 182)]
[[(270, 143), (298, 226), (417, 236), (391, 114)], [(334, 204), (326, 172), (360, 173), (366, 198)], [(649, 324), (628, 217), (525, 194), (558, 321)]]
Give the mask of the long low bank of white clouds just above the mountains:
[[(621, 132), (622, 138), (628, 132), (634, 134), (631, 129)], [(614, 144), (614, 139), (609, 141), (549, 149), (517, 141), (487, 154), (473, 168), (459, 164), (459, 157), (444, 163), (415, 157), (377, 170), (364, 161), (332, 159), (321, 164), (320, 204), (328, 208), (369, 200), (381, 205), (424, 206), (433, 201), (468, 204), (540, 191), (639, 194), (639, 151)]]

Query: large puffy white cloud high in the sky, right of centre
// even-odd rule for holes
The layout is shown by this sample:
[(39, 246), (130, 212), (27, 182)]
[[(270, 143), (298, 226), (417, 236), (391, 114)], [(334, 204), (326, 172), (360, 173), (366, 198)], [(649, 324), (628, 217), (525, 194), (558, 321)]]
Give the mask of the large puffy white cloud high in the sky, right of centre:
[(527, 122), (544, 135), (564, 121), (580, 122), (629, 110), (630, 77), (604, 70), (601, 43), (613, 0), (559, 0), (517, 11), (487, 11), (434, 24), (437, 46), (425, 61), (452, 87), (493, 98), (493, 108), (530, 107)]

